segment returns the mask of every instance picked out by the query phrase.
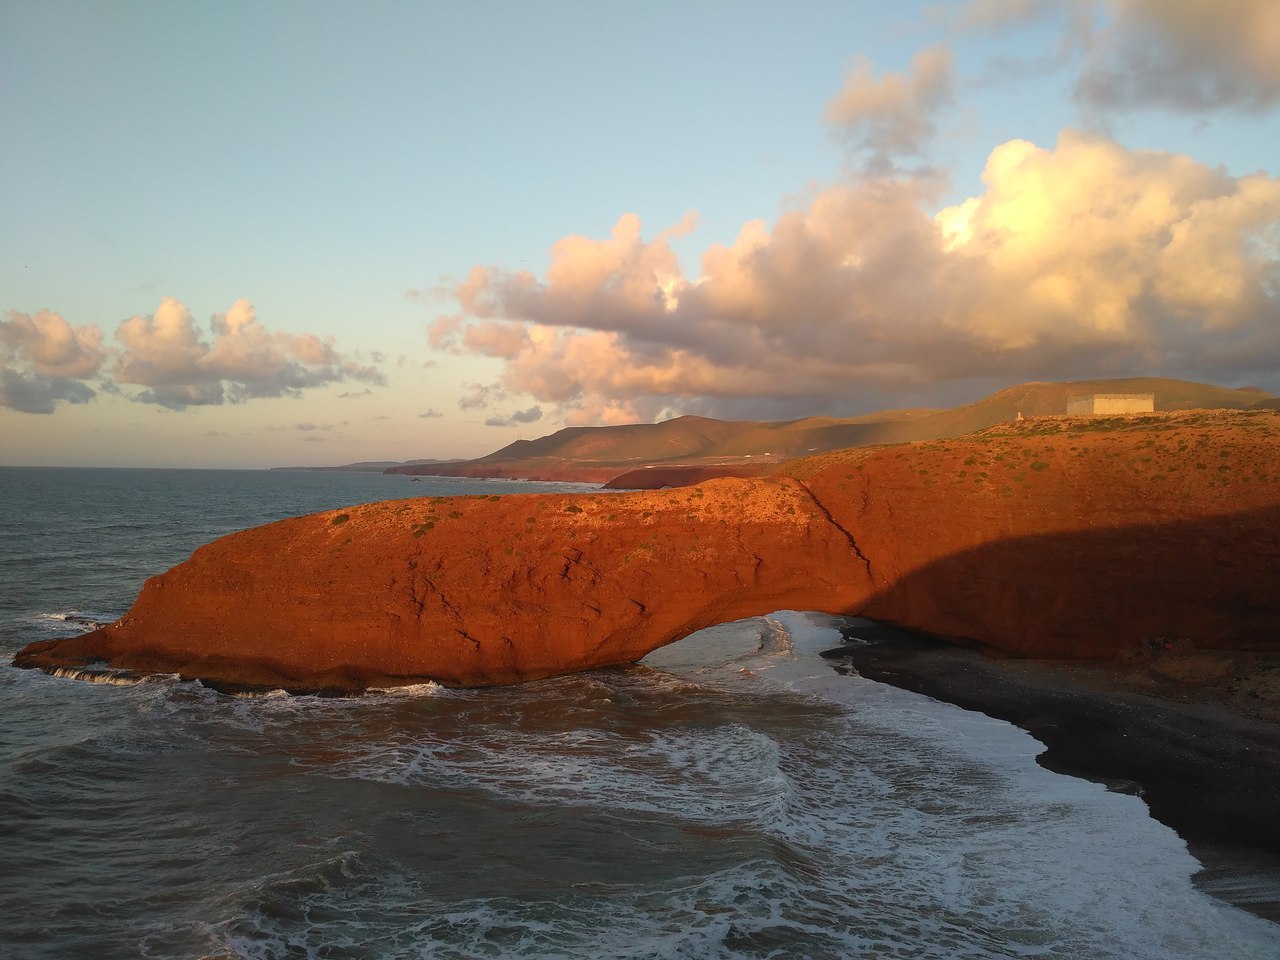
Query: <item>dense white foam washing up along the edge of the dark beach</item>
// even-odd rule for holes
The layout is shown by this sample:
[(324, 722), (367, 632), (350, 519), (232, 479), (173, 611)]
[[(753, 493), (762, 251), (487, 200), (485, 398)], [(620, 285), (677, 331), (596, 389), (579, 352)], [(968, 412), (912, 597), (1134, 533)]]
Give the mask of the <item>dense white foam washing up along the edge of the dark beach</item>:
[[(794, 612), (771, 620), (791, 634), (794, 654), (759, 672), (845, 704), (850, 742), (888, 748), (876, 767), (890, 805), (874, 822), (846, 824), (844, 836), (818, 831), (849, 896), (883, 886), (992, 928), (1025, 925), (1039, 932), (1021, 946), (1048, 955), (1155, 960), (1280, 951), (1280, 927), (1194, 887), (1198, 861), (1138, 797), (1041, 768), (1033, 760), (1043, 745), (1012, 724), (840, 677), (813, 657), (836, 645), (838, 631)], [(847, 791), (865, 754), (833, 745), (831, 755), (836, 763), (809, 765), (796, 782), (819, 797)], [(879, 856), (868, 856), (876, 850)], [(1107, 940), (1123, 946), (1103, 954)]]

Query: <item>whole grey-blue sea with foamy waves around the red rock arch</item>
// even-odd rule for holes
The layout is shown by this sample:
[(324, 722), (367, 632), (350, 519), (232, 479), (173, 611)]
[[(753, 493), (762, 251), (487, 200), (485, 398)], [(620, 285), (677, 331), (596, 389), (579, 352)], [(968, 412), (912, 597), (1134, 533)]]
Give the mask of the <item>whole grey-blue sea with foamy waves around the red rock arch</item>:
[(499, 485), (573, 489), (0, 468), (0, 956), (1280, 956), (1280, 925), (1202, 892), (1140, 799), (837, 672), (818, 614), (488, 690), (228, 696), (8, 666), (221, 534)]

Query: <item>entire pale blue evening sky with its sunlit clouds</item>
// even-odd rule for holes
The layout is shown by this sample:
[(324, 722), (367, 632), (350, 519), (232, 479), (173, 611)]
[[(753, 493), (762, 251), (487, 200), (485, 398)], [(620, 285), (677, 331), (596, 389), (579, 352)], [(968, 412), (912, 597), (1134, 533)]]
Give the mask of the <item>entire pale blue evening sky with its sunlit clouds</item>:
[(0, 465), (1280, 393), (1280, 4), (0, 3)]

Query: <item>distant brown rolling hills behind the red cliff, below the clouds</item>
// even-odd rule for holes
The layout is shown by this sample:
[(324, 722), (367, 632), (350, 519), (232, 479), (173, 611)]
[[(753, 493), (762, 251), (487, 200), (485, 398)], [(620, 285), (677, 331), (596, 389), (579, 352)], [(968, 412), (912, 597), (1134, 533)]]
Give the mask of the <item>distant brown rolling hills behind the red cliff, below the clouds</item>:
[(1280, 402), (1252, 387), (1231, 389), (1149, 376), (1025, 383), (952, 410), (890, 410), (776, 422), (682, 416), (660, 424), (570, 426), (536, 440), (516, 440), (479, 460), (403, 465), (387, 472), (600, 480), (611, 470), (769, 463), (846, 447), (960, 436), (1015, 420), (1019, 413), (1062, 416), (1069, 397), (1087, 393), (1152, 393), (1157, 411), (1247, 410)]

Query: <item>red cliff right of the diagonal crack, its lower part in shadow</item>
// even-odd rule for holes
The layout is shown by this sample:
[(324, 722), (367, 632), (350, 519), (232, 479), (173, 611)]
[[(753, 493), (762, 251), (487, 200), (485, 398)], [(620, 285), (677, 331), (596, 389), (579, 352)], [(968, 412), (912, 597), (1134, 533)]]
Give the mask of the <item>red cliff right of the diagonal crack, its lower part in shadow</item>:
[(1019, 657), (1280, 649), (1280, 417), (1044, 419), (815, 458), (865, 616)]

